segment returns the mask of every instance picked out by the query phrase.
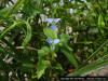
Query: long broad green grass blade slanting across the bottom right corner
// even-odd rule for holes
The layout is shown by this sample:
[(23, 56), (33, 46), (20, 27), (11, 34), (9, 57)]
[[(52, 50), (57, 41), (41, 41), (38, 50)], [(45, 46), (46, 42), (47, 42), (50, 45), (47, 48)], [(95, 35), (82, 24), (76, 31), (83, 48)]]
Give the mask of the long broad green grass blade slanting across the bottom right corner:
[(95, 62), (93, 64), (82, 67), (79, 70), (76, 70), (75, 72), (69, 73), (68, 76), (69, 77), (76, 77), (76, 76), (83, 77), (83, 76), (86, 76), (86, 75), (91, 73), (92, 71), (98, 70), (107, 65), (108, 65), (108, 59), (103, 60), (103, 62)]

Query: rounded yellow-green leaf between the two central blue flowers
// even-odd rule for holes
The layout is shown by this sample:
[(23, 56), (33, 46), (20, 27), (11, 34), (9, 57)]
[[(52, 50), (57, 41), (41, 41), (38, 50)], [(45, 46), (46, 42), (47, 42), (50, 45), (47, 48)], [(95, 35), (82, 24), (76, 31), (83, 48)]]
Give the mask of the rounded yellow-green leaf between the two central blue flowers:
[(44, 35), (48, 38), (51, 38), (51, 39), (56, 39), (57, 38), (56, 31), (52, 30), (51, 28), (44, 28), (43, 31), (44, 31)]

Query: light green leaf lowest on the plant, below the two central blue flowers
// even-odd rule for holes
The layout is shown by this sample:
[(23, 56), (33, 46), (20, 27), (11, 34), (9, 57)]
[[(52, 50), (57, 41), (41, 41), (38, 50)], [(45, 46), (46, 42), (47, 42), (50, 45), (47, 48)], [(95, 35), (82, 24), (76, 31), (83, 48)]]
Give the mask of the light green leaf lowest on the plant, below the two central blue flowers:
[(37, 66), (37, 78), (40, 79), (50, 66), (50, 60), (40, 60)]

